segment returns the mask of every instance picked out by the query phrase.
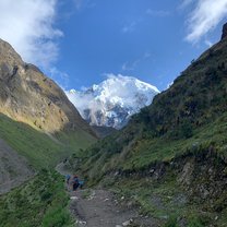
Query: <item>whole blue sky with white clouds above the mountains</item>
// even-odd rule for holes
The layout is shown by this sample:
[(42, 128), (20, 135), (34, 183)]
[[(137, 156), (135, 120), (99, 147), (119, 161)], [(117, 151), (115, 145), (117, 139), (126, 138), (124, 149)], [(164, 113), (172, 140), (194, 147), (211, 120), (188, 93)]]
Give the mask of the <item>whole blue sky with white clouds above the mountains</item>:
[[(65, 89), (113, 73), (163, 91), (219, 40), (227, 17), (226, 0), (21, 0), (14, 9), (10, 1), (0, 0), (0, 37)], [(8, 7), (14, 20), (2, 15)]]

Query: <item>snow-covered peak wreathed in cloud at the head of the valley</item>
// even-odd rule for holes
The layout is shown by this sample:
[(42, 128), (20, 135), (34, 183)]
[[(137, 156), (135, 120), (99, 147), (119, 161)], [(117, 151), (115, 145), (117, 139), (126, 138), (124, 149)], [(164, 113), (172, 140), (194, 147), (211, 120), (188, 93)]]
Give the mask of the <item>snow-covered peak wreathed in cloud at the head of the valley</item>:
[(120, 129), (132, 115), (150, 105), (159, 91), (135, 77), (111, 74), (98, 85), (65, 93), (91, 126)]

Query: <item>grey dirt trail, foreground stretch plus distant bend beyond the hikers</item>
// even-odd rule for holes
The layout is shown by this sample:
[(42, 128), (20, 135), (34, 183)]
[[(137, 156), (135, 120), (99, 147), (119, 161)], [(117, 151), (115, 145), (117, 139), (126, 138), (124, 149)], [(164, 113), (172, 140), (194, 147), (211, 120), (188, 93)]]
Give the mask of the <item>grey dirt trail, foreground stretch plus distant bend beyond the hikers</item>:
[[(63, 164), (59, 164), (56, 170), (61, 175), (68, 175)], [(107, 190), (77, 190), (70, 191), (70, 210), (77, 220), (79, 227), (157, 227), (154, 220), (142, 217), (135, 208), (120, 205), (113, 193)]]

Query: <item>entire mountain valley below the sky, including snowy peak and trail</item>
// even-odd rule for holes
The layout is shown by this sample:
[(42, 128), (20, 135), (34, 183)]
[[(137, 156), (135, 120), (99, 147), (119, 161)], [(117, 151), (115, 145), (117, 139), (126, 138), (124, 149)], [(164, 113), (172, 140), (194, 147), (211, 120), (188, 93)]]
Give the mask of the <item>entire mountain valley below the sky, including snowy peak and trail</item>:
[(65, 91), (0, 39), (0, 226), (226, 227), (226, 27), (163, 92)]

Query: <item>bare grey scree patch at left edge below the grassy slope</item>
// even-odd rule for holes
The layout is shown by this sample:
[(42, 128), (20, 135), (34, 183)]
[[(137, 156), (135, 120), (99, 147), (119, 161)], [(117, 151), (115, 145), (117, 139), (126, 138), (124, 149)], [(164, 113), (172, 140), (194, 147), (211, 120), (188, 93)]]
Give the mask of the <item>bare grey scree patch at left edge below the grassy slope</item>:
[(34, 174), (26, 159), (0, 139), (0, 194), (20, 186)]

